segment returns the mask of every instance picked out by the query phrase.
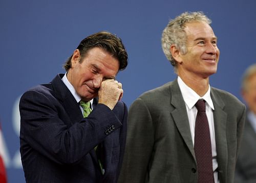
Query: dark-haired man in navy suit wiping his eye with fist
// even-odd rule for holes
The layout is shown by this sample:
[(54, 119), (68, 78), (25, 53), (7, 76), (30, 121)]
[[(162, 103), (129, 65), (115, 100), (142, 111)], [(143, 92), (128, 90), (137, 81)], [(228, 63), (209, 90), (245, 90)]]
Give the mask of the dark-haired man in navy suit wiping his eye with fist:
[(127, 108), (115, 77), (126, 66), (121, 39), (99, 32), (81, 41), (64, 65), (65, 74), (24, 93), (20, 153), (27, 182), (117, 181)]

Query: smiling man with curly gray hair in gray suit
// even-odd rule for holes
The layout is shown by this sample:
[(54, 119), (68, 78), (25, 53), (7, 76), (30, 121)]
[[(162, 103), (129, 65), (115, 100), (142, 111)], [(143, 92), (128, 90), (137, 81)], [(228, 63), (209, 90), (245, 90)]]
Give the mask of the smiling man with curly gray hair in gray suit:
[(233, 182), (246, 108), (230, 93), (209, 86), (220, 55), (210, 23), (202, 12), (185, 12), (164, 29), (163, 51), (178, 77), (131, 105), (120, 183), (209, 183), (199, 180), (204, 170), (194, 149), (200, 99), (208, 119), (209, 143), (203, 147), (210, 146), (211, 182)]

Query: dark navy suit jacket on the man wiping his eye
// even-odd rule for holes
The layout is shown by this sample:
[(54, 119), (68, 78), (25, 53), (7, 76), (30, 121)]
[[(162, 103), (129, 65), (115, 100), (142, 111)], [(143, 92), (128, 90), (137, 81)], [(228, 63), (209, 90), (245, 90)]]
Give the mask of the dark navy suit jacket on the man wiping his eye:
[(26, 181), (116, 182), (125, 146), (126, 105), (118, 101), (112, 111), (97, 104), (83, 118), (62, 76), (30, 89), (20, 99), (20, 154)]

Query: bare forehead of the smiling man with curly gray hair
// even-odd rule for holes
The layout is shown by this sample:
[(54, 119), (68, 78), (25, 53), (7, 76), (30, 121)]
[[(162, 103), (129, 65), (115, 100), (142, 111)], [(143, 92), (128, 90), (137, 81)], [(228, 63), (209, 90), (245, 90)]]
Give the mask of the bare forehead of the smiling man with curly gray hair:
[(214, 31), (206, 22), (189, 22), (185, 24), (184, 31), (187, 38), (216, 38)]

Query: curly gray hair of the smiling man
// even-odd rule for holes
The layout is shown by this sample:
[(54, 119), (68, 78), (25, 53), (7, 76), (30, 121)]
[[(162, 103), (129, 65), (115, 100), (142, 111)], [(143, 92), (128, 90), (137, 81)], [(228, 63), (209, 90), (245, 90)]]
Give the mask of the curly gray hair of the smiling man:
[(184, 31), (185, 24), (188, 22), (202, 21), (208, 24), (211, 20), (204, 15), (203, 12), (184, 12), (175, 19), (170, 20), (162, 33), (162, 48), (166, 58), (176, 68), (176, 61), (170, 53), (170, 46), (174, 44), (181, 54), (186, 54), (186, 33)]

